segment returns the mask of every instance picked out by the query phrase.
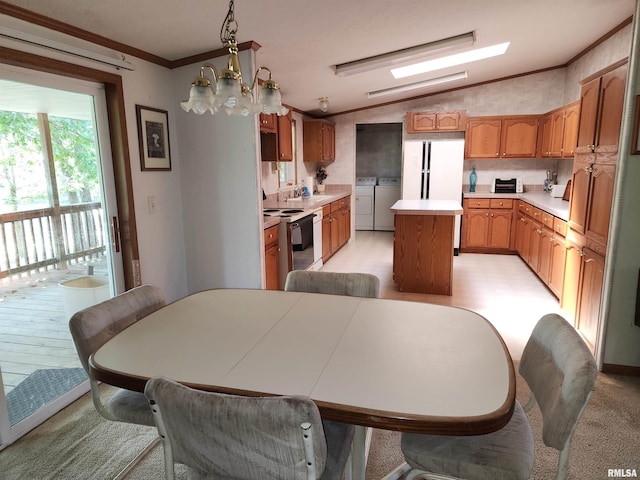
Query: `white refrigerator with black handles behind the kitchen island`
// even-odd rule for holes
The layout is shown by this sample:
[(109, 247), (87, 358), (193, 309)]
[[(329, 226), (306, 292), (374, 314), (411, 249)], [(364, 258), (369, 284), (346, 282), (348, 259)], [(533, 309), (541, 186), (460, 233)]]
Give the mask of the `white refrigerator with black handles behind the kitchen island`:
[[(403, 200), (455, 200), (462, 204), (464, 140), (408, 140), (402, 155)], [(460, 248), (456, 215), (454, 248)]]

